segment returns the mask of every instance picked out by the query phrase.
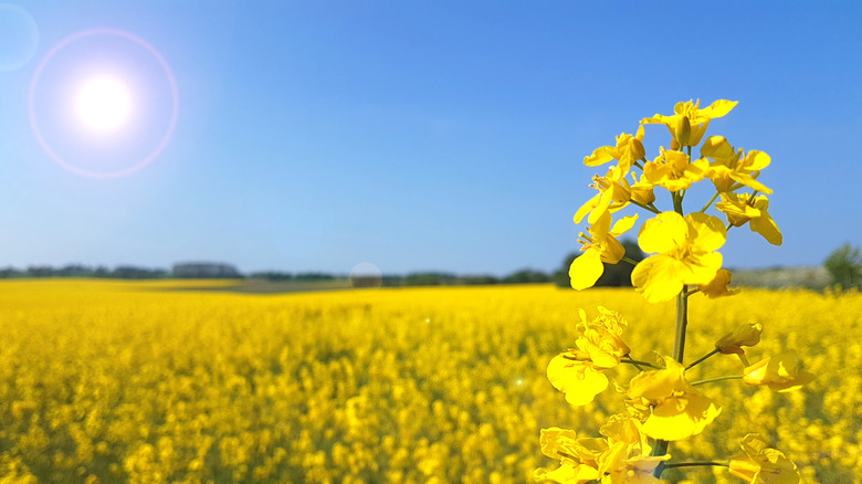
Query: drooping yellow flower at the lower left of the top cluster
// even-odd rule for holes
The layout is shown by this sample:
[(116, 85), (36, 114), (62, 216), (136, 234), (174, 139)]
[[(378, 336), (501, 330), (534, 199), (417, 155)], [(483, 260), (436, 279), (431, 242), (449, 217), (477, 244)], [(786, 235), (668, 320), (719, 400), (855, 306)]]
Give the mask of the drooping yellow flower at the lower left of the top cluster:
[(624, 217), (611, 228), (611, 215), (605, 212), (587, 229), (589, 235), (580, 233), (580, 236), (585, 239), (580, 241), (582, 245), (580, 250), (584, 253), (576, 257), (569, 266), (571, 287), (578, 291), (592, 287), (605, 273), (603, 262), (616, 264), (622, 260), (626, 255), (626, 248), (617, 240), (617, 236), (631, 229), (637, 220), (637, 214)]

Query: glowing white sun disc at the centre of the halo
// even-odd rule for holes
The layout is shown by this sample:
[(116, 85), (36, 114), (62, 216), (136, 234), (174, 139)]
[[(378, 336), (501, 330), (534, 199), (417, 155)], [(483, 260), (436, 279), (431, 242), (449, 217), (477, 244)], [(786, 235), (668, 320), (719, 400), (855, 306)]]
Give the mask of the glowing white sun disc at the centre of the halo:
[(91, 130), (111, 133), (120, 129), (128, 123), (132, 109), (132, 93), (115, 76), (87, 77), (77, 87), (75, 113)]

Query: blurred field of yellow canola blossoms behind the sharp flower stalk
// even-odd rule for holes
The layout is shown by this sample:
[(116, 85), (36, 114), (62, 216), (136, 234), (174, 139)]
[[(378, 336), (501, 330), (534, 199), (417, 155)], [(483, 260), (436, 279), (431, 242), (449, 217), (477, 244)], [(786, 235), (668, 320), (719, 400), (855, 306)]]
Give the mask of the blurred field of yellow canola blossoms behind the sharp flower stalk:
[[(225, 282), (0, 283), (0, 482), (524, 483), (545, 427), (598, 436), (608, 389), (569, 407), (545, 376), (577, 309), (619, 311), (638, 357), (667, 354), (674, 307), (628, 290), (549, 285), (206, 292)], [(197, 291), (171, 291), (182, 285)], [(723, 406), (674, 461), (726, 460), (760, 432), (806, 483), (862, 482), (862, 295), (691, 298), (686, 360), (763, 323), (751, 362), (797, 348), (817, 373), (775, 393), (700, 387)], [(691, 379), (738, 373), (715, 356)], [(627, 382), (630, 368), (612, 370)], [(673, 482), (742, 483), (723, 467)]]

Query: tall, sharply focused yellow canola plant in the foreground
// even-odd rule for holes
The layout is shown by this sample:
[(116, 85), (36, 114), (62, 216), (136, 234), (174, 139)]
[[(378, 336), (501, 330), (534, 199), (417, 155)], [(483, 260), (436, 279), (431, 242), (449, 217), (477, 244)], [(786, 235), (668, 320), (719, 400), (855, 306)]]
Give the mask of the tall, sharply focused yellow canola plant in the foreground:
[[(721, 417), (721, 400), (705, 393), (704, 387), (742, 380), (747, 386), (788, 392), (814, 379), (801, 368), (792, 350), (755, 364), (748, 361), (743, 347), (760, 341), (759, 323), (729, 328), (732, 332), (719, 338), (714, 349), (687, 365), (684, 361), (688, 298), (697, 293), (715, 298), (738, 292), (728, 288), (732, 274), (723, 269), (724, 259), (718, 252), (730, 230), (748, 224), (767, 242), (782, 242), (781, 231), (768, 212), (767, 194), (772, 190), (758, 181), (760, 170), (771, 161), (769, 156), (758, 150), (746, 154), (723, 136), (704, 139), (711, 120), (727, 115), (736, 105), (726, 99), (704, 108), (700, 99), (677, 103), (674, 114), (644, 118), (637, 134), (623, 133), (616, 146), (600, 147), (585, 158), (590, 167), (616, 164), (606, 176), (593, 177), (591, 187), (598, 193), (575, 214), (576, 223), (586, 217), (589, 225), (586, 233), (580, 233), (584, 253), (569, 269), (571, 286), (591, 287), (605, 264), (634, 264), (632, 285), (648, 303), (676, 303), (673, 351), (660, 355), (649, 347), (630, 346), (622, 337), (629, 323), (617, 312), (599, 307), (599, 316), (590, 320), (580, 311), (576, 347), (559, 354), (547, 367), (550, 383), (565, 393), (566, 401), (571, 406), (591, 403), (610, 387), (606, 373), (622, 364), (639, 372), (628, 382), (614, 380), (624, 411), (610, 415), (599, 429), (601, 438), (578, 436), (572, 430), (559, 428), (542, 432), (543, 453), (559, 461), (559, 466), (537, 469), (535, 480), (646, 484), (661, 482), (667, 469), (716, 466), (726, 467), (730, 475), (750, 484), (799, 482), (797, 465), (759, 433), (739, 435), (745, 455), (727, 460), (675, 462), (670, 452), (671, 442), (701, 434)], [(662, 146), (653, 159), (646, 158), (643, 147), (644, 125), (649, 124), (664, 125), (671, 134), (670, 149)], [(692, 151), (702, 141), (695, 159)], [(713, 197), (702, 209), (686, 212), (686, 193), (693, 185), (706, 180), (714, 186)], [(656, 206), (656, 190), (670, 193), (671, 207)], [(626, 257), (617, 239), (634, 228), (639, 214), (613, 223), (613, 218), (629, 208), (653, 215), (638, 232), (638, 244), (651, 254), (640, 262)], [(711, 209), (724, 214), (726, 222), (708, 213)], [(632, 347), (638, 350), (637, 359)], [(692, 380), (691, 370), (717, 354), (737, 355), (740, 368), (735, 375)]]

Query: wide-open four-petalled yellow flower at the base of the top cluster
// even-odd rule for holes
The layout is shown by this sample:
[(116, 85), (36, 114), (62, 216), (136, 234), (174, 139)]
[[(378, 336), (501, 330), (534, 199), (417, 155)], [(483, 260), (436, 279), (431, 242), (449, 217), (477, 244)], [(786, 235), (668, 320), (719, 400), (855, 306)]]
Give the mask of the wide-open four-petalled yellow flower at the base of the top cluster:
[(650, 303), (670, 301), (684, 284), (709, 284), (722, 267), (726, 230), (715, 217), (664, 212), (648, 220), (638, 235), (644, 252), (658, 252), (638, 263), (631, 281)]

